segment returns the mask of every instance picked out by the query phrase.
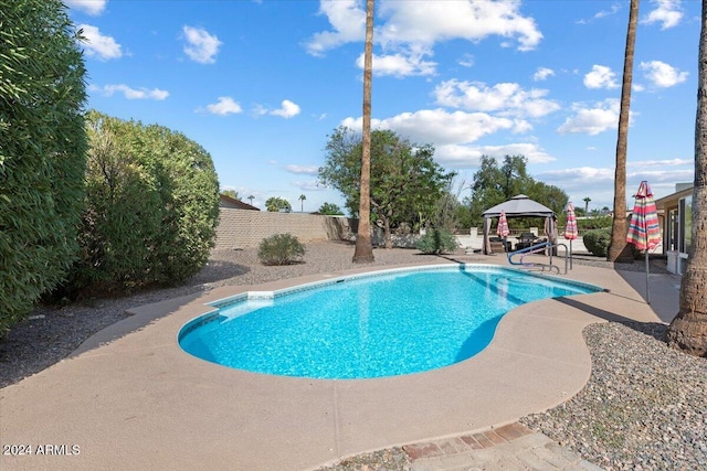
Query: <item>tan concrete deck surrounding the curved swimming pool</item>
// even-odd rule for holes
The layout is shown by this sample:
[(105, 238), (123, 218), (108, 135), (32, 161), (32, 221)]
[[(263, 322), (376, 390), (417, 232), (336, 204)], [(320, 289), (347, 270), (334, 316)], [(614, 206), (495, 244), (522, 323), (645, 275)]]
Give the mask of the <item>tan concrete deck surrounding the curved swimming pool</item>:
[[(505, 257), (483, 263), (504, 265)], [(307, 470), (365, 451), (498, 429), (584, 386), (591, 371), (585, 325), (669, 322), (678, 306), (676, 276), (651, 275), (648, 306), (645, 274), (574, 264), (561, 278), (610, 292), (523, 306), (500, 321), (478, 355), (380, 379), (260, 375), (207, 363), (177, 344), (180, 328), (209, 310), (204, 302), (359, 271), (368, 270), (225, 287), (134, 309), (71, 357), (0, 389), (2, 445), (32, 447), (32, 456), (0, 456), (0, 468)], [(39, 456), (40, 445), (61, 454)]]

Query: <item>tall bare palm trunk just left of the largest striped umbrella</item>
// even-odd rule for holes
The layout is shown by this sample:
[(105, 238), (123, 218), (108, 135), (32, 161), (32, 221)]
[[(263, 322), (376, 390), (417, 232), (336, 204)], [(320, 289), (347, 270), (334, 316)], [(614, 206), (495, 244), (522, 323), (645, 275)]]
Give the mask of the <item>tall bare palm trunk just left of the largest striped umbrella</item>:
[(631, 83), (633, 81), (633, 51), (636, 43), (639, 22), (639, 0), (631, 0), (629, 8), (629, 32), (623, 57), (623, 84), (621, 87), (621, 109), (619, 111), (619, 138), (616, 139), (616, 169), (614, 170), (614, 217), (611, 225), (611, 244), (606, 259), (629, 263), (633, 250), (626, 243), (629, 223), (626, 221), (626, 153), (629, 148), (629, 111), (631, 108)]

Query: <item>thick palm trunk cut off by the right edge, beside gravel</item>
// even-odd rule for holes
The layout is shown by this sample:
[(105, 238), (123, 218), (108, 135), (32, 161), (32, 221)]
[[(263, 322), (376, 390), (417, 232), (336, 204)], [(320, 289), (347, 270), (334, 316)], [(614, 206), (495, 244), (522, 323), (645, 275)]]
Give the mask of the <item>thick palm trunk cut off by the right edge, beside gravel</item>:
[(680, 282), (679, 311), (667, 328), (674, 349), (707, 357), (707, 0), (703, 0), (697, 69), (697, 119), (695, 120), (695, 185), (693, 186), (693, 248)]

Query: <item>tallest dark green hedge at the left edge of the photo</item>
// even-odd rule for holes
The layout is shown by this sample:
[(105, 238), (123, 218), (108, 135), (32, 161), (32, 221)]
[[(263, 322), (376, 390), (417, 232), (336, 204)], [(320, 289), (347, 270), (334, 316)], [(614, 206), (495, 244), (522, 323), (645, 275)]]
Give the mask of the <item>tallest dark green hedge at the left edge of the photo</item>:
[(59, 0), (0, 1), (0, 335), (78, 254), (85, 68)]

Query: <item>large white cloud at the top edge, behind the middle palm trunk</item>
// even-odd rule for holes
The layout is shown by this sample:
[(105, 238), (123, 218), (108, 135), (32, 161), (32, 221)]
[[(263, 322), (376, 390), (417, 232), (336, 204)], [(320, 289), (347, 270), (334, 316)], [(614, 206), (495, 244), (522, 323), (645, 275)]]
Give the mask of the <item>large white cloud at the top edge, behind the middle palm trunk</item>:
[[(519, 1), (444, 2), (387, 1), (377, 10), (374, 41), (383, 49), (379, 65), (384, 75), (431, 75), (436, 64), (424, 61), (433, 55), (434, 44), (443, 41), (482, 41), (497, 35), (514, 40), (520, 51), (535, 49), (542, 34), (532, 18), (519, 13)], [(319, 14), (326, 15), (330, 31), (314, 34), (305, 44), (307, 52), (321, 56), (350, 42), (363, 41), (366, 11), (354, 0), (321, 0)], [(504, 44), (505, 45), (505, 44)], [(359, 60), (359, 67), (362, 62)], [(464, 61), (465, 66), (469, 64)], [(376, 67), (374, 67), (376, 68)]]

